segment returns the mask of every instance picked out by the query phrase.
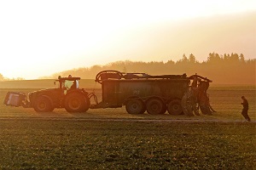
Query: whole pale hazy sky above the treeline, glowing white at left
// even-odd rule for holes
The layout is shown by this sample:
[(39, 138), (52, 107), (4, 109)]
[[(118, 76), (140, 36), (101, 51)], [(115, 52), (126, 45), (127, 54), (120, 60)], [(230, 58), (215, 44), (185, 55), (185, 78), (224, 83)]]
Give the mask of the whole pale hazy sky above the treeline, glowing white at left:
[(206, 60), (213, 51), (254, 59), (255, 12), (255, 0), (0, 0), (0, 73), (35, 79), (116, 60)]

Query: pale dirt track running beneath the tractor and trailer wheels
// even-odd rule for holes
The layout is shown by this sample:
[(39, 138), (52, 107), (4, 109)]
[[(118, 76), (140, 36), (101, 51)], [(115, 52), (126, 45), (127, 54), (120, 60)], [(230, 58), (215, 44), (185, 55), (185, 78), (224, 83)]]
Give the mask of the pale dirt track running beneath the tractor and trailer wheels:
[[(186, 115), (169, 115), (167, 112), (163, 115), (149, 115), (147, 112), (141, 115), (130, 115), (125, 111), (125, 107), (117, 109), (95, 109), (86, 113), (68, 113), (65, 109), (55, 109), (53, 112), (37, 113), (33, 109), (14, 108), (13, 112), (2, 112), (0, 120), (4, 119), (42, 119), (42, 120), (87, 120), (102, 122), (247, 122), (240, 112), (229, 116), (224, 112), (215, 112), (212, 115), (186, 116)], [(256, 123), (251, 116), (252, 121)]]

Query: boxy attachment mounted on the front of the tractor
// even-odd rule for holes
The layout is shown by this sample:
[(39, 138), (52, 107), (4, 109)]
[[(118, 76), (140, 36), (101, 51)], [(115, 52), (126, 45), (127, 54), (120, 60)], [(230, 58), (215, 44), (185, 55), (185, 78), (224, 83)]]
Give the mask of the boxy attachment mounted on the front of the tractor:
[(22, 92), (8, 92), (3, 101), (4, 105), (11, 105), (15, 107), (26, 107), (26, 94)]

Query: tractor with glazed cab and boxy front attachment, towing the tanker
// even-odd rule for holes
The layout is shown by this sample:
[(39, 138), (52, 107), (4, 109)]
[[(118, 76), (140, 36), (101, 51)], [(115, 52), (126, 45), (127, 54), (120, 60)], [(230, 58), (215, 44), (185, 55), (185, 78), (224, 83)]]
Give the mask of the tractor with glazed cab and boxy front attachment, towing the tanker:
[(58, 88), (47, 88), (28, 94), (8, 92), (5, 105), (32, 107), (37, 112), (49, 112), (65, 108), (68, 112), (85, 112), (90, 108), (90, 99), (84, 89), (79, 88), (80, 77), (58, 77)]

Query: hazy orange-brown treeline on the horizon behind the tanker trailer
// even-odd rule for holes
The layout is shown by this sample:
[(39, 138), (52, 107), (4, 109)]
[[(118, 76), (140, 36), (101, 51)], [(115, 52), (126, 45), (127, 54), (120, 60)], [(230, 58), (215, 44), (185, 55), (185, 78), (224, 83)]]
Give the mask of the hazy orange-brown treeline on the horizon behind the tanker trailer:
[[(69, 71), (62, 71), (50, 77), (73, 77), (83, 79), (94, 79), (96, 74), (103, 70), (117, 70), (123, 72), (145, 72), (149, 75), (183, 74), (188, 76), (197, 73), (202, 77), (212, 79), (217, 84), (256, 84), (255, 83), (256, 59), (245, 59), (243, 54), (219, 55), (210, 53), (207, 61), (199, 62), (194, 54), (188, 57), (183, 54), (183, 58), (176, 62), (163, 61), (116, 61), (108, 65), (94, 65), (89, 68), (78, 68)], [(43, 78), (43, 77), (42, 77)]]

